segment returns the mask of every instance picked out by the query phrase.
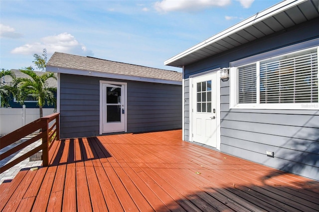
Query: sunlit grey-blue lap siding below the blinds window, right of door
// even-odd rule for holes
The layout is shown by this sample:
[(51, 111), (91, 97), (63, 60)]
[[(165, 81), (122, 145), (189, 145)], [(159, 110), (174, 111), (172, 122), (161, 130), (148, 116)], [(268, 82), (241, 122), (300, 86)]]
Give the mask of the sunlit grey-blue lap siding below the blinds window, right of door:
[(318, 110), (229, 109), (229, 89), (224, 88), (222, 152), (319, 180)]

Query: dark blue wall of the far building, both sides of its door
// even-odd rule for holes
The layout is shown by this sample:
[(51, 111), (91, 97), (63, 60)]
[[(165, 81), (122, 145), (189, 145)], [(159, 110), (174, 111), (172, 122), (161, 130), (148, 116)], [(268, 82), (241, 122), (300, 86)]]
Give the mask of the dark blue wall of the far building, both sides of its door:
[(99, 135), (100, 80), (127, 83), (127, 129), (181, 128), (182, 87), (60, 74), (60, 137)]

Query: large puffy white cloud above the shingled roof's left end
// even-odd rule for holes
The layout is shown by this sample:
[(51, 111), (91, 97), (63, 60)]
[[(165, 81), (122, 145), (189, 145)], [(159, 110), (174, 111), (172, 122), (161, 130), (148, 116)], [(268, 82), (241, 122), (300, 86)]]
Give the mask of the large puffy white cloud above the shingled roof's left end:
[(41, 53), (44, 48), (46, 48), (48, 54), (53, 54), (54, 52), (63, 52), (88, 56), (93, 55), (93, 52), (87, 50), (85, 45), (79, 43), (73, 35), (66, 32), (58, 35), (43, 37), (41, 42), (35, 42), (32, 44), (25, 44), (23, 46), (16, 47), (11, 51), (11, 53), (28, 55)]

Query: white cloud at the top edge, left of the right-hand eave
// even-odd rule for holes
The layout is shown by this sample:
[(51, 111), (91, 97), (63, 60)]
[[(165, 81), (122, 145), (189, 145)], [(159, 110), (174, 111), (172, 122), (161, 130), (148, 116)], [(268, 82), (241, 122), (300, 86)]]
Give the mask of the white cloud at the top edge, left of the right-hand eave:
[(196, 11), (212, 6), (226, 6), (231, 0), (161, 0), (154, 5), (160, 12), (168, 11)]

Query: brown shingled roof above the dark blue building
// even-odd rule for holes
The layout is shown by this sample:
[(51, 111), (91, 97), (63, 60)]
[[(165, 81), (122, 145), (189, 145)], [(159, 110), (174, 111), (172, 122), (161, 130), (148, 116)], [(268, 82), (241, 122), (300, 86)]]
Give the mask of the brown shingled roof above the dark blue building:
[(47, 70), (59, 72), (55, 68), (85, 70), (90, 72), (127, 75), (141, 78), (152, 78), (169, 81), (182, 80), (182, 73), (146, 66), (132, 65), (94, 57), (84, 57), (55, 52), (46, 64)]

